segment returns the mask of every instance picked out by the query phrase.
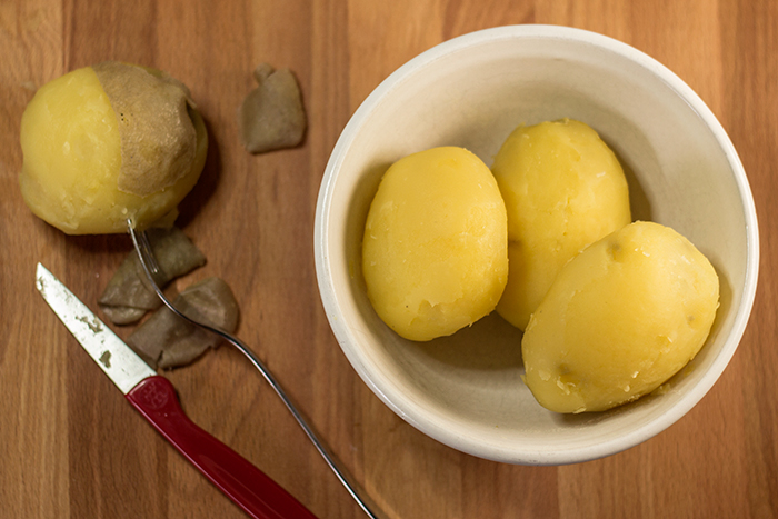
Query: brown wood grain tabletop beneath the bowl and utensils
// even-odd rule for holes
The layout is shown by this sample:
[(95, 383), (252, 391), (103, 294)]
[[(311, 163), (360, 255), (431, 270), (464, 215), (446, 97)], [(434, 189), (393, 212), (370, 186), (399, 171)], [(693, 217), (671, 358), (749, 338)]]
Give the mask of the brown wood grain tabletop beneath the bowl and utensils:
[[(761, 234), (754, 312), (708, 396), (638, 447), (565, 467), (477, 459), (393, 415), (338, 348), (313, 268), (319, 183), (359, 103), (430, 47), (516, 23), (601, 32), (680, 76), (740, 153)], [(18, 187), (20, 118), (36, 89), (107, 59), (169, 71), (208, 124), (206, 170), (179, 220), (208, 265), (177, 287), (228, 281), (239, 336), (388, 517), (778, 517), (777, 51), (772, 0), (0, 0), (0, 517), (245, 517), (121, 398), (34, 290), (42, 261), (96, 308), (131, 248), (127, 236), (62, 234)], [(297, 74), (309, 130), (297, 149), (255, 157), (239, 143), (236, 109), (263, 61)], [(235, 350), (166, 377), (197, 423), (318, 517), (362, 517)]]

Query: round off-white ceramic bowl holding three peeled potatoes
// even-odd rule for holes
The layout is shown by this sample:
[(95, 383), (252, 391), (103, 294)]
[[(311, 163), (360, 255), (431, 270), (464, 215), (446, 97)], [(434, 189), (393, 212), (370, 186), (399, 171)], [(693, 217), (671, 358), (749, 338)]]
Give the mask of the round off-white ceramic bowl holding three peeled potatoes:
[[(429, 343), (377, 317), (360, 272), (367, 211), (387, 167), (436, 146), (488, 166), (519, 123), (563, 117), (595, 128), (620, 158), (632, 216), (670, 226), (718, 271), (710, 337), (662, 395), (601, 413), (562, 416), (521, 382), (521, 333), (496, 315)], [(757, 283), (758, 231), (748, 180), (715, 116), (667, 68), (596, 33), (501, 27), (441, 43), (387, 78), (330, 157), (316, 212), (316, 268), (335, 336), (370, 389), (420, 431), (498, 461), (559, 465), (632, 447), (691, 409), (742, 336)]]

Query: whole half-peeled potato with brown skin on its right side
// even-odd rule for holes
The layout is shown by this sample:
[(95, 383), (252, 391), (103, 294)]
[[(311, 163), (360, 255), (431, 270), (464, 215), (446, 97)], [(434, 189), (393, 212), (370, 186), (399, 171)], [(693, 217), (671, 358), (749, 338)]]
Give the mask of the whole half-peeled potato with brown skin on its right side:
[(100, 234), (174, 211), (202, 171), (208, 137), (182, 83), (104, 62), (38, 90), (21, 147), (19, 183), (32, 212), (69, 234)]

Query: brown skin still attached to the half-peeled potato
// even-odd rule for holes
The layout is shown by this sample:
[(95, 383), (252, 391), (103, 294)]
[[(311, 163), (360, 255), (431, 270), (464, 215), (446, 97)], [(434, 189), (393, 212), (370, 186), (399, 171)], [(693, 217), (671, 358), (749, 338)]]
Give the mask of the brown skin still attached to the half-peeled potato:
[(166, 72), (116, 61), (92, 69), (119, 122), (119, 190), (144, 197), (173, 186), (197, 152), (187, 87)]

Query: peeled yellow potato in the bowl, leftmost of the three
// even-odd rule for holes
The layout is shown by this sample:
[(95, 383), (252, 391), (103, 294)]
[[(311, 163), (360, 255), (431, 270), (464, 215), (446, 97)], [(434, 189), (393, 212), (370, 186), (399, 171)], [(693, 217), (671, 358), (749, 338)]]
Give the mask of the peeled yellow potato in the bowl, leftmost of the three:
[(362, 272), (378, 316), (430, 340), (491, 312), (508, 276), (505, 203), (489, 168), (461, 148), (392, 164), (370, 206)]

